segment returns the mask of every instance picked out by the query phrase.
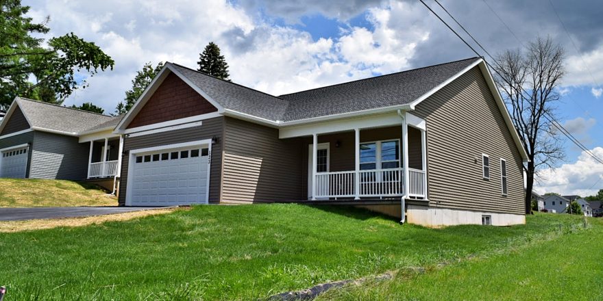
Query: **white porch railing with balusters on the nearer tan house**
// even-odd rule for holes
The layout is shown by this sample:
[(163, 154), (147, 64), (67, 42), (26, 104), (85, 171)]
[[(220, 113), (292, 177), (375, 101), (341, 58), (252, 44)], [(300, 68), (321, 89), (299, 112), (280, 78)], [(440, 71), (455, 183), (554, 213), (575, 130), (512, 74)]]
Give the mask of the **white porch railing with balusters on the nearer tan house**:
[[(426, 198), (426, 173), (408, 169), (408, 196)], [(404, 196), (404, 168), (359, 170), (359, 197)], [(316, 174), (316, 198), (346, 198), (356, 196), (356, 171), (320, 172)]]

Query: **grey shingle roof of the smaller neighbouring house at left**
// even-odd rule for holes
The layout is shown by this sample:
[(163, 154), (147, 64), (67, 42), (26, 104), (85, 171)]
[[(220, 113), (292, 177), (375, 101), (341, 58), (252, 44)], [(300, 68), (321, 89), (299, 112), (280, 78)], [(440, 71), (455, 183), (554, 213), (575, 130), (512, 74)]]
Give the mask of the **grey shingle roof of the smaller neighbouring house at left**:
[(101, 129), (103, 128), (100, 127), (102, 125), (106, 125), (104, 127), (117, 125), (117, 122), (121, 119), (121, 116), (95, 114), (71, 107), (62, 107), (23, 98), (20, 98), (19, 107), (23, 114), (27, 116), (27, 120), (32, 122), (32, 127), (72, 134), (83, 133), (91, 129)]

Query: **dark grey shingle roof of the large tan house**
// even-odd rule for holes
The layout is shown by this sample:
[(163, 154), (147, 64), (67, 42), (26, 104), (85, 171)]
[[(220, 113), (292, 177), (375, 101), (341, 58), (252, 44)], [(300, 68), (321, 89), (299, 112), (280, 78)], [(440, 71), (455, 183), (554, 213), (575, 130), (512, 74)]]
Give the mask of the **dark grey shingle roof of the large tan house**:
[(273, 121), (293, 121), (412, 103), (479, 57), (272, 96), (172, 64), (225, 109)]

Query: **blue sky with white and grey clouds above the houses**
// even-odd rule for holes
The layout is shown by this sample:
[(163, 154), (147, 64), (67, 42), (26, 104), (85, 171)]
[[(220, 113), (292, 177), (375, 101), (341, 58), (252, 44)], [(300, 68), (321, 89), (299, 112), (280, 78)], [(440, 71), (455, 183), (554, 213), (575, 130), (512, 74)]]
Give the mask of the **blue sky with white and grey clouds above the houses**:
[[(92, 101), (114, 112), (146, 62), (197, 67), (216, 42), (230, 78), (270, 94), (394, 73), (476, 56), (419, 1), (394, 0), (24, 0), (50, 16), (47, 37), (69, 32), (114, 60), (66, 105)], [(445, 13), (426, 0), (441, 16)], [(489, 51), (550, 36), (566, 51), (558, 120), (603, 158), (603, 3), (597, 0), (441, 0)], [(445, 18), (451, 21), (449, 18)], [(482, 53), (484, 55), (484, 53)], [(565, 142), (566, 158), (543, 170), (535, 190), (587, 196), (603, 189), (603, 164)]]

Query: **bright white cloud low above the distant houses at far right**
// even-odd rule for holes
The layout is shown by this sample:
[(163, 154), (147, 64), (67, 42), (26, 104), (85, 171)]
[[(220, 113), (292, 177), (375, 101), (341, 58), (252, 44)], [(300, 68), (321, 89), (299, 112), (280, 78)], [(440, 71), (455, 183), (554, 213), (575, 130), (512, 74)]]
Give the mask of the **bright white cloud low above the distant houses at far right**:
[[(595, 147), (591, 152), (603, 158), (603, 147)], [(591, 196), (603, 188), (603, 164), (595, 161), (584, 151), (578, 157), (578, 161), (563, 164), (553, 170), (543, 170), (540, 175), (542, 183), (536, 187), (536, 190), (541, 194), (557, 192), (564, 195)], [(595, 185), (597, 181), (599, 185)], [(593, 185), (595, 186), (591, 188)]]

